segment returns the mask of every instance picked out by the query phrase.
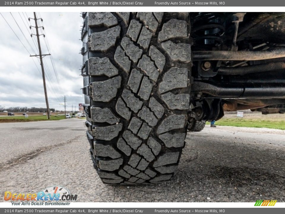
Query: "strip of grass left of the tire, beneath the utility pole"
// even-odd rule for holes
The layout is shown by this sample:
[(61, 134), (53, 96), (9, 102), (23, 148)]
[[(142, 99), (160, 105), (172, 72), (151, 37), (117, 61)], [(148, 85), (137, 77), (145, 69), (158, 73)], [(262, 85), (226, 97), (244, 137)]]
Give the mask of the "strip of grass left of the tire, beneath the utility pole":
[[(61, 120), (65, 119), (64, 115), (51, 115), (49, 120)], [(29, 122), (29, 121), (43, 121), (47, 120), (46, 115), (32, 115), (29, 117), (25, 116), (7, 116), (0, 117), (0, 123), (3, 122)]]

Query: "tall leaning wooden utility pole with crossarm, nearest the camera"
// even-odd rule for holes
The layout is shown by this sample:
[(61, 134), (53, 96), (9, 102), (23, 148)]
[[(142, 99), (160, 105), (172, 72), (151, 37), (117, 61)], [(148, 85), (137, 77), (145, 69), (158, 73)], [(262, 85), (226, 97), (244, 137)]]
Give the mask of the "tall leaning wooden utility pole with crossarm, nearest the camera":
[[(29, 19), (30, 20), (30, 19)], [(34, 12), (34, 20), (35, 20), (35, 28), (36, 28), (36, 36), (37, 36), (37, 40), (38, 40), (38, 46), (39, 46), (39, 55), (33, 55), (33, 56), (39, 56), (39, 59), (40, 59), (40, 62), (41, 62), (41, 67), (42, 67), (42, 81), (44, 83), (44, 91), (45, 91), (45, 103), (47, 105), (47, 119), (50, 119), (50, 107), (48, 105), (48, 100), (47, 100), (47, 88), (46, 88), (46, 85), (45, 85), (45, 70), (44, 70), (44, 64), (42, 62), (42, 56), (46, 56), (46, 55), (50, 55), (50, 54), (42, 54), (42, 49), (41, 49), (41, 43), (39, 41), (39, 36), (43, 35), (39, 35), (39, 26), (38, 26), (38, 23), (37, 23), (37, 16), (36, 16), (36, 12)], [(41, 26), (42, 27), (42, 26)], [(31, 28), (31, 26), (30, 26)], [(33, 34), (31, 34), (31, 37), (32, 37)], [(44, 35), (45, 36), (45, 35)]]

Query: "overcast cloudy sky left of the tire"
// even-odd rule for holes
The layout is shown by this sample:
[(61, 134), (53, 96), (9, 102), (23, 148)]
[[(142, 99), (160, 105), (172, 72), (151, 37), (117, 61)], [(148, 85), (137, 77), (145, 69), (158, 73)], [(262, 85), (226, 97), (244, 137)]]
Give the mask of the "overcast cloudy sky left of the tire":
[[(9, 25), (15, 31), (22, 43), (26, 46), (31, 55), (34, 51), (38, 54), (31, 38), (29, 25), (35, 26), (34, 20), (26, 22), (27, 16), (34, 17), (32, 12), (12, 12), (26, 39), (31, 44), (31, 49), (24, 35), (8, 12), (1, 12)], [(80, 26), (82, 17), (80, 13), (72, 12), (41, 12), (43, 22), (38, 21), (39, 26), (44, 26), (44, 34), (50, 46), (50, 53), (53, 56), (58, 81), (54, 73), (50, 56), (45, 56), (45, 76), (47, 80), (47, 95), (50, 108), (64, 109), (64, 95), (67, 100), (67, 110), (71, 105), (77, 106), (83, 103), (83, 94), (80, 88), (83, 87), (83, 78), (80, 76), (82, 55), (79, 54), (82, 47), (80, 39)], [(23, 20), (22, 20), (22, 19)], [(39, 59), (30, 57), (15, 34), (12, 32), (6, 21), (0, 15), (0, 106), (4, 107), (46, 107), (41, 66)], [(35, 32), (35, 30), (34, 30)], [(35, 36), (34, 36), (35, 37)], [(48, 54), (47, 45), (41, 36), (42, 54)], [(34, 58), (35, 63), (32, 58)], [(39, 72), (40, 71), (40, 72)], [(49, 72), (48, 72), (49, 71)], [(53, 79), (53, 80), (51, 80)], [(58, 84), (59, 82), (59, 84)]]

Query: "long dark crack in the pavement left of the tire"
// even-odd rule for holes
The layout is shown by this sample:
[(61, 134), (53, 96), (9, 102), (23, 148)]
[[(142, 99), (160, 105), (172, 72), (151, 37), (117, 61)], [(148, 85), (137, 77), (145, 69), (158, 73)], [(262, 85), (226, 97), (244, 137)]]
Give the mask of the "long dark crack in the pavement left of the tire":
[(42, 152), (46, 152), (46, 151), (49, 151), (49, 150), (51, 150), (53, 148), (73, 143), (79, 137), (80, 136), (77, 136), (77, 137), (75, 137), (73, 139), (70, 139), (69, 141), (66, 141), (66, 142), (62, 142), (62, 143), (51, 145), (51, 146), (47, 146), (47, 147), (40, 147), (40, 148), (38, 148), (38, 149), (36, 149), (36, 150), (34, 150), (32, 152), (29, 152), (29, 153), (26, 153), (26, 154), (23, 154), (23, 155), (18, 155), (17, 157), (15, 157), (15, 158), (13, 158), (13, 159), (11, 159), (9, 161), (6, 161), (4, 163), (0, 163), (0, 171), (2, 171), (3, 169), (8, 169), (9, 167), (13, 167), (13, 166), (25, 163), (26, 161), (29, 161), (29, 160), (31, 160), (33, 158), (36, 158)]

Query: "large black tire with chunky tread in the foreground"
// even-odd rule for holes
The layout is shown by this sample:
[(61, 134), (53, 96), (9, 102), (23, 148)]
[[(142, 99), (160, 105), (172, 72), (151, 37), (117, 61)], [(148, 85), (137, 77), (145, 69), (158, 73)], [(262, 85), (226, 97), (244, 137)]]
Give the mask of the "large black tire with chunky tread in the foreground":
[(84, 109), (95, 169), (108, 184), (169, 180), (187, 133), (189, 14), (89, 12), (83, 18)]

